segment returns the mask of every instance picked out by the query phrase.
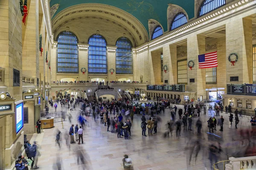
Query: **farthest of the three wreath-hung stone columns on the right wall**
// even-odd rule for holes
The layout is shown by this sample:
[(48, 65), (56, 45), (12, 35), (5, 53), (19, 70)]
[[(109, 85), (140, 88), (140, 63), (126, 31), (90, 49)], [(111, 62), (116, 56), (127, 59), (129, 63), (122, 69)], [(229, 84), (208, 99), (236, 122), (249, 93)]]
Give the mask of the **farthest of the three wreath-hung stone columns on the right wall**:
[(177, 84), (177, 45), (167, 45), (163, 47), (163, 65), (167, 65), (167, 73), (163, 72), (164, 80), (168, 80), (169, 85)]

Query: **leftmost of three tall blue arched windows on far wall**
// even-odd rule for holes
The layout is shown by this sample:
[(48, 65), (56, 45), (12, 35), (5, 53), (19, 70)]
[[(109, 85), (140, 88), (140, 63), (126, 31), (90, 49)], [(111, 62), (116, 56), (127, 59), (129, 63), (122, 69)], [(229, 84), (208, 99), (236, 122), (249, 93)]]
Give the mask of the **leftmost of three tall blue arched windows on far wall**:
[(64, 31), (57, 37), (57, 73), (79, 73), (77, 37)]

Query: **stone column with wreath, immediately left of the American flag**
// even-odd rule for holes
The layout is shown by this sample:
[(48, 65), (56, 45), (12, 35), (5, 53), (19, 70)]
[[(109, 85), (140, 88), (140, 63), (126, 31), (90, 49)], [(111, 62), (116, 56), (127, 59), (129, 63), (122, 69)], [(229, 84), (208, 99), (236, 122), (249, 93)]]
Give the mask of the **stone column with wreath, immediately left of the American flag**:
[[(203, 96), (206, 99), (205, 92), (205, 69), (198, 68), (198, 55), (205, 54), (205, 36), (204, 35), (191, 35), (187, 39), (187, 58), (195, 62), (195, 66), (192, 70), (188, 68), (188, 85), (187, 91), (197, 92), (197, 98)], [(194, 83), (190, 83), (189, 79), (195, 79)]]

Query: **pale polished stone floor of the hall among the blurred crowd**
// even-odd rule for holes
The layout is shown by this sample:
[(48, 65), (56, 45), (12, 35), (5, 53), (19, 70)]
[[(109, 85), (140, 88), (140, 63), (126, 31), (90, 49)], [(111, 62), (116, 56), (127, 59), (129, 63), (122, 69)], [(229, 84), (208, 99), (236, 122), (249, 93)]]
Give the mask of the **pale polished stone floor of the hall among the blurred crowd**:
[[(183, 108), (183, 105), (177, 106)], [(53, 108), (50, 108), (50, 115), (57, 117), (61, 109), (65, 111), (67, 108), (58, 107), (56, 113)], [(70, 111), (70, 113), (72, 114), (71, 123), (76, 124), (79, 114), (78, 108), (76, 111)], [(160, 115), (163, 121), (160, 123), (157, 134), (148, 135), (147, 131), (147, 137), (141, 134), (141, 116), (134, 115), (131, 137), (128, 140), (118, 139), (116, 133), (107, 132), (107, 127), (101, 125), (99, 119), (94, 122), (92, 117), (87, 117), (88, 122), (83, 135), (84, 144), (70, 144), (67, 133), (71, 124), (68, 119), (64, 121), (64, 128), (60, 122), (55, 123), (54, 128), (45, 129), (39, 135), (34, 134), (32, 139), (38, 140), (38, 143), (41, 144), (41, 156), (38, 160), (40, 170), (57, 170), (57, 165), (61, 166), (62, 170), (122, 170), (124, 154), (132, 159), (134, 170), (210, 170), (207, 149), (209, 144), (215, 140), (220, 141), (223, 152), (219, 154), (218, 161), (226, 160), (227, 153), (235, 154), (233, 151), (239, 147), (232, 145), (232, 141), (237, 140), (237, 131), (241, 128), (250, 128), (249, 116), (239, 118), (239, 129), (237, 130), (235, 125), (230, 125), (228, 122), (229, 114), (220, 113), (220, 115), (223, 115), (225, 119), (224, 131), (220, 132), (218, 130), (220, 127), (217, 127), (214, 135), (207, 133), (207, 120), (213, 114), (201, 113), (200, 119), (203, 122), (203, 129), (200, 137), (195, 130), (195, 122), (198, 118), (193, 118), (192, 131), (183, 130), (182, 127), (179, 139), (176, 138), (175, 131), (170, 138), (164, 138), (166, 122), (171, 117), (170, 109), (166, 109), (166, 113)], [(57, 118), (55, 121), (58, 120), (60, 119)], [(57, 129), (61, 131), (60, 147), (55, 143)], [(65, 140), (67, 137), (68, 145), (66, 145)], [(189, 164), (191, 148), (198, 138), (201, 141), (201, 150), (198, 153), (197, 161), (195, 162), (195, 156), (192, 156), (192, 161)], [(81, 163), (81, 159), (84, 160), (84, 163)]]

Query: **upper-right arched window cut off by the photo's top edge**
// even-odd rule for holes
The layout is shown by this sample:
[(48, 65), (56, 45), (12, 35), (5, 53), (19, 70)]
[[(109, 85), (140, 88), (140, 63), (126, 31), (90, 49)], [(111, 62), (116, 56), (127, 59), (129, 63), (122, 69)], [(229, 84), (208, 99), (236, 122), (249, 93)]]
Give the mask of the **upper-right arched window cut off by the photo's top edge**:
[(203, 16), (226, 4), (226, 0), (204, 0), (199, 10), (198, 17)]

